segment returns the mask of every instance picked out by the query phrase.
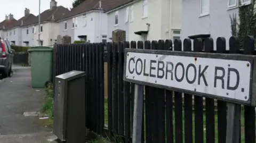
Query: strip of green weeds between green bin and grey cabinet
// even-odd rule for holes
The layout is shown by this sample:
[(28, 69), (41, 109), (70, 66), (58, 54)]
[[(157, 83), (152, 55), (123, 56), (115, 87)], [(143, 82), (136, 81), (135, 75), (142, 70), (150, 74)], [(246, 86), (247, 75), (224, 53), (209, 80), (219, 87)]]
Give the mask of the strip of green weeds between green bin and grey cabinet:
[(49, 116), (49, 119), (46, 120), (45, 125), (52, 127), (53, 126), (53, 88), (52, 85), (49, 85), (45, 88), (45, 98), (44, 104), (41, 108), (41, 113)]

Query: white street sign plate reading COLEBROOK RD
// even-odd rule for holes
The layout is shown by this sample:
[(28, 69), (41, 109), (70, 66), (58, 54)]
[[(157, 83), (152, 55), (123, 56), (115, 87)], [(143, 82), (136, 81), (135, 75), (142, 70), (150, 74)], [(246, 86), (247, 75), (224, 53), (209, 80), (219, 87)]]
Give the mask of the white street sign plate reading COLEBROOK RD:
[(250, 97), (249, 61), (127, 52), (125, 70), (126, 79), (159, 87), (244, 102)]

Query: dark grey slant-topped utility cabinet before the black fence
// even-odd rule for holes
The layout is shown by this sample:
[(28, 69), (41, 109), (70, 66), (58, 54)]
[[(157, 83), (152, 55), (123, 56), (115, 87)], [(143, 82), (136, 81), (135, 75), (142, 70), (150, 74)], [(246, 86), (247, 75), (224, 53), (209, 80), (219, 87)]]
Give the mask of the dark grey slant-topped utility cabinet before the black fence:
[(53, 133), (67, 143), (85, 142), (85, 72), (55, 77)]

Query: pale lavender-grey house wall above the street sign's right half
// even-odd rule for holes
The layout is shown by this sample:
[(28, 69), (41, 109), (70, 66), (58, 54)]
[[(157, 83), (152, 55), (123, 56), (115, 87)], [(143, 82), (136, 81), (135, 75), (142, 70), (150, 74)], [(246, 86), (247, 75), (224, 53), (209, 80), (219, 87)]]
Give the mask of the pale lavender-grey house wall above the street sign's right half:
[(215, 41), (222, 36), (227, 39), (228, 49), (228, 39), (232, 36), (230, 16), (238, 18), (238, 6), (248, 4), (251, 0), (183, 0), (182, 39), (211, 37)]

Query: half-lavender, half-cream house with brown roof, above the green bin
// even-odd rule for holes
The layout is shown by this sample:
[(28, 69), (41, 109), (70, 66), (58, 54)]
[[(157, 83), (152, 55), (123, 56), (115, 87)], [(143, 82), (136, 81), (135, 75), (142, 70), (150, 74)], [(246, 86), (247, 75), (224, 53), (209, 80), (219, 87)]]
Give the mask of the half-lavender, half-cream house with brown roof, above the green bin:
[[(50, 9), (45, 10), (40, 15), (41, 24), (38, 26), (38, 16), (30, 19), (22, 25), (22, 43), (26, 46), (51, 46), (55, 44), (58, 36), (58, 20), (64, 18), (70, 11), (63, 6), (57, 6), (55, 0), (51, 0)], [(40, 41), (38, 41), (40, 35)]]

